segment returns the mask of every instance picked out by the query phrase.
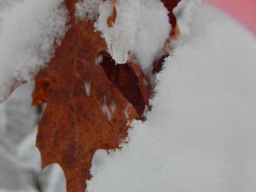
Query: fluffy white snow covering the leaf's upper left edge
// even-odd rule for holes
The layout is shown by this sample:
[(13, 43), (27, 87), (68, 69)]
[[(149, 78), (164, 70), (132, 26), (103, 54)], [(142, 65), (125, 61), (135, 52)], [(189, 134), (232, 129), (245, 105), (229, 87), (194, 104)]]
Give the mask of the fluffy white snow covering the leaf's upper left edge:
[[(67, 30), (63, 0), (24, 0), (0, 14), (0, 100), (54, 56)], [(11, 3), (9, 3), (11, 4)]]

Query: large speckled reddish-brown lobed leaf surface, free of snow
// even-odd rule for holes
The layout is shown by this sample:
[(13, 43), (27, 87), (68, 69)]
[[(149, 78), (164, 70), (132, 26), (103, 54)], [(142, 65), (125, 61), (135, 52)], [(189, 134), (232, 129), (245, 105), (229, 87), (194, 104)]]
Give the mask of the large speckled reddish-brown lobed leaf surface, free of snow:
[[(134, 97), (124, 96), (130, 89), (126, 84), (137, 83), (138, 87), (132, 69), (129, 75), (113, 70), (118, 80), (112, 83), (108, 70), (102, 67), (106, 62), (96, 65), (95, 59), (106, 50), (106, 43), (94, 32), (93, 23), (76, 22), (72, 15), (74, 2), (66, 3), (71, 12), (71, 27), (48, 67), (36, 76), (33, 100), (34, 104), (43, 103), (49, 94), (36, 142), (42, 167), (58, 163), (66, 176), (67, 191), (82, 192), (86, 179), (90, 179), (94, 152), (119, 146), (127, 134), (127, 121), (139, 118), (137, 111), (143, 112), (145, 100), (135, 86), (132, 87)], [(46, 82), (49, 82), (49, 93)], [(85, 84), (87, 89), (90, 87), (90, 93), (86, 92)], [(120, 87), (123, 89), (119, 90)]]

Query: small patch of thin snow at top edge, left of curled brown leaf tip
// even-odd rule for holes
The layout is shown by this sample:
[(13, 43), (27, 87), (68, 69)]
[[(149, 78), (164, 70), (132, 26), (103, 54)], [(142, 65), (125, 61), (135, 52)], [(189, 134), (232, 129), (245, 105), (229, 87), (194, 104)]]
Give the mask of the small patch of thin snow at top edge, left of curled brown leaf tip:
[(76, 18), (93, 21), (99, 14), (98, 9), (101, 2), (102, 0), (79, 0), (76, 2)]

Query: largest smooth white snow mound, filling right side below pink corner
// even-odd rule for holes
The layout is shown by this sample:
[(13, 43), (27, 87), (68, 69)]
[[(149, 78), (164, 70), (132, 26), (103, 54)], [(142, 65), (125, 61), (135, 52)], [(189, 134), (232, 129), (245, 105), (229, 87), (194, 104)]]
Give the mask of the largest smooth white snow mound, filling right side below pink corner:
[(256, 38), (196, 2), (174, 45), (152, 111), (92, 167), (88, 192), (256, 191)]

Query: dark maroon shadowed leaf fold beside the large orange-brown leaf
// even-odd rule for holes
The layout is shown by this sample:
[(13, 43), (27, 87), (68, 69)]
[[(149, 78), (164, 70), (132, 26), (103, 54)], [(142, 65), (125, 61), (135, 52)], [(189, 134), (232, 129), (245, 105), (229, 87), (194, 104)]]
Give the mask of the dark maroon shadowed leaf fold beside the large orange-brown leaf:
[(133, 63), (116, 65), (107, 51), (102, 51), (100, 55), (103, 58), (101, 66), (108, 79), (124, 94), (141, 116), (150, 97), (151, 87), (148, 77), (142, 73), (138, 65)]

